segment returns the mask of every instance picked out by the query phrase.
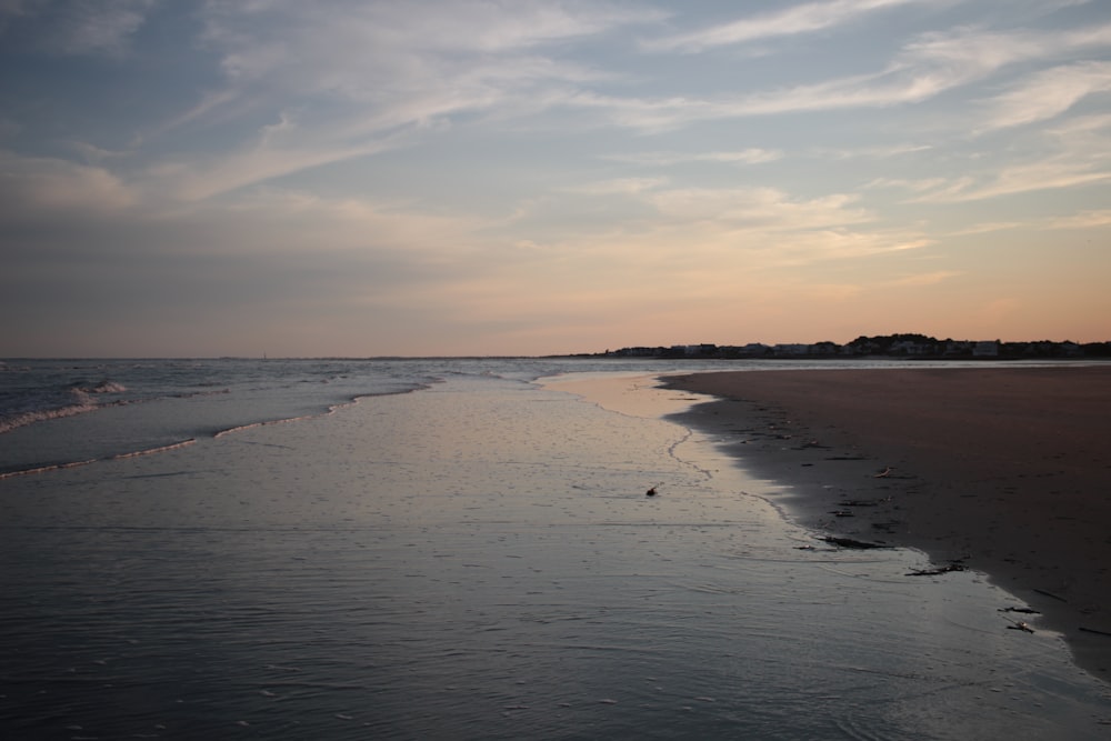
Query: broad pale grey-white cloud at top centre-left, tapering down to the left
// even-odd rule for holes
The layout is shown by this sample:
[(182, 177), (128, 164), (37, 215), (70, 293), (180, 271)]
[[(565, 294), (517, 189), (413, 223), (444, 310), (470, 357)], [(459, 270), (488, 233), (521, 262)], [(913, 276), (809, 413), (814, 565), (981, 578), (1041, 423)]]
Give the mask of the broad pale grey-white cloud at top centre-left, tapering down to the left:
[[(538, 53), (547, 44), (604, 33), (661, 13), (604, 3), (211, 2), (204, 44), (224, 88), (209, 90), (160, 133), (212, 122), (257, 122), (209, 161), (179, 173), (184, 198), (220, 193), (308, 168), (402, 146), (456, 119), (528, 116), (599, 72)], [(257, 124), (256, 124), (257, 126)]]

